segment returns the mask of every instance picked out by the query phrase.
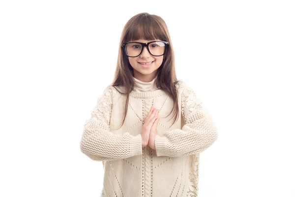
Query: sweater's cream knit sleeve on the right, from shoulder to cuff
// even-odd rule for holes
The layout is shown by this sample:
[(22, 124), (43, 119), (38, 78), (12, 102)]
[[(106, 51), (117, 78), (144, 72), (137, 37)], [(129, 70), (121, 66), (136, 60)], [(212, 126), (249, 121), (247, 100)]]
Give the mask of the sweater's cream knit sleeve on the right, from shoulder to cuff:
[(194, 155), (206, 150), (216, 139), (217, 129), (202, 101), (192, 88), (179, 81), (182, 129), (167, 131), (155, 137), (157, 156), (179, 157)]

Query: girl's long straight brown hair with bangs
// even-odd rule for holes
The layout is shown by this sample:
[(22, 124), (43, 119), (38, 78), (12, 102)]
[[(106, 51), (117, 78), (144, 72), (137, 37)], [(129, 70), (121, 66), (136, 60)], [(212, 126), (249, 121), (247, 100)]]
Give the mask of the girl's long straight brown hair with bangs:
[(121, 86), (125, 88), (125, 92), (120, 92), (116, 88), (120, 94), (127, 96), (126, 97), (127, 100), (125, 103), (124, 119), (122, 124), (124, 123), (126, 114), (127, 114), (129, 94), (131, 93), (134, 87), (134, 79), (133, 79), (134, 72), (133, 72), (133, 67), (129, 63), (128, 57), (124, 54), (124, 50), (121, 44), (123, 42), (128, 42), (128, 41), (133, 41), (138, 39), (146, 39), (146, 40), (159, 39), (162, 41), (169, 42), (169, 45), (167, 46), (164, 57), (163, 57), (163, 63), (157, 70), (157, 77), (156, 77), (155, 83), (158, 89), (163, 90), (174, 101), (173, 110), (172, 110), (174, 111), (173, 116), (175, 116), (175, 120), (173, 122), (174, 124), (175, 121), (178, 119), (179, 110), (178, 110), (177, 90), (175, 87), (175, 83), (177, 83), (178, 80), (175, 73), (175, 60), (174, 60), (173, 46), (172, 46), (172, 42), (171, 42), (168, 28), (165, 21), (161, 17), (157, 15), (148, 14), (147, 12), (139, 13), (133, 16), (131, 19), (129, 19), (129, 21), (126, 23), (126, 25), (123, 28), (121, 38), (120, 38), (117, 67), (116, 67), (116, 71), (114, 75), (114, 80), (110, 86), (113, 86), (114, 88), (116, 86), (117, 87)]

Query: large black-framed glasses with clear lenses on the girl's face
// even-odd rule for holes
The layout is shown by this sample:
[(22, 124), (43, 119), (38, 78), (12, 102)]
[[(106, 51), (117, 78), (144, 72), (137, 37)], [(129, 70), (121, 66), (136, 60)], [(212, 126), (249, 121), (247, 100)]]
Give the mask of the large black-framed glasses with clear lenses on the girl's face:
[(143, 52), (143, 48), (146, 46), (148, 52), (152, 56), (162, 56), (166, 51), (166, 46), (169, 45), (167, 41), (151, 41), (147, 43), (142, 42), (125, 42), (122, 43), (125, 54), (128, 57), (137, 57)]

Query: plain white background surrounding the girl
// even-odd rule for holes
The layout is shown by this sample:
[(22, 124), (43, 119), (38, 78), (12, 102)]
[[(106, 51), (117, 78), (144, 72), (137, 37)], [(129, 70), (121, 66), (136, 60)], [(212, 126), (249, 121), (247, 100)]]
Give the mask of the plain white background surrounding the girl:
[(162, 17), (177, 78), (218, 139), (201, 153), (199, 197), (295, 197), (292, 0), (1, 0), (0, 196), (98, 197), (103, 167), (80, 152), (135, 14)]

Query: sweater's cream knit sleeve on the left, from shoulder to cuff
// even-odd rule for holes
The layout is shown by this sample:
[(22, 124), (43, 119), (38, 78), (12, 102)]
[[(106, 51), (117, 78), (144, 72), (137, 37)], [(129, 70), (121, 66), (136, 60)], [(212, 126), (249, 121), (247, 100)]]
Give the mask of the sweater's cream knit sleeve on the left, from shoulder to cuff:
[(124, 159), (142, 153), (141, 134), (136, 136), (129, 132), (114, 134), (110, 131), (113, 98), (118, 91), (109, 86), (97, 99), (91, 117), (84, 124), (80, 140), (80, 149), (94, 161)]

